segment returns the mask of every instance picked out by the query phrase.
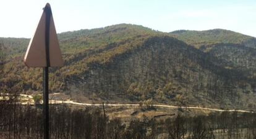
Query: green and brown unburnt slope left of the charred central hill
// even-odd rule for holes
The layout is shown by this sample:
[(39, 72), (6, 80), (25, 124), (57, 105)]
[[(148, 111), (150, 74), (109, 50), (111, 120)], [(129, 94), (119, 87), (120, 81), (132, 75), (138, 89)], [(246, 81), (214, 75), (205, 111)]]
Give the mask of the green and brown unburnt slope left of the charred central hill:
[[(80, 34), (80, 35), (77, 35)], [(79, 73), (83, 73), (88, 68), (88, 63), (96, 61), (108, 62), (111, 57), (118, 53), (137, 47), (136, 43), (147, 38), (151, 34), (156, 34), (148, 28), (138, 25), (120, 24), (98, 28), (93, 30), (80, 30), (58, 34), (62, 53), (64, 55), (65, 66), (61, 72), (57, 68), (51, 68), (50, 85), (53, 90), (62, 90), (66, 87), (63, 83), (66, 78), (74, 78)], [(7, 62), (4, 65), (5, 78), (1, 83), (8, 87), (17, 86), (22, 90), (41, 89), (40, 68), (27, 68), (23, 65), (23, 55), (28, 44), (28, 39), (1, 38), (4, 46), (9, 50), (18, 48), (19, 50), (7, 51)], [(134, 41), (137, 40), (137, 41)], [(134, 44), (128, 45), (130, 41)], [(15, 43), (13, 43), (15, 42)], [(25, 45), (24, 45), (25, 44)], [(122, 47), (119, 47), (122, 46)], [(116, 49), (116, 47), (119, 47)], [(114, 51), (112, 51), (114, 49)], [(81, 66), (80, 64), (85, 64)], [(61, 74), (61, 76), (53, 76)], [(19, 83), (19, 84), (17, 84)]]

